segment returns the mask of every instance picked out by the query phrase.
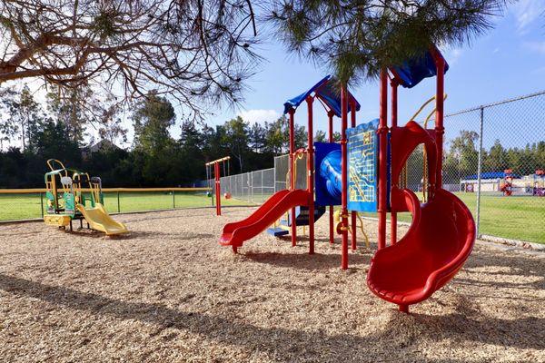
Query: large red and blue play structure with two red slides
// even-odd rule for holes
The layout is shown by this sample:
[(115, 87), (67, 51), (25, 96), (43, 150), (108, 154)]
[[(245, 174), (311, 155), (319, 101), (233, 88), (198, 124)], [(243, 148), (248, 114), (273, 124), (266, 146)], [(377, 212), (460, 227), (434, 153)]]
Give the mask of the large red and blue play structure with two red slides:
[[(330, 76), (310, 90), (284, 103), (290, 119), (290, 188), (278, 191), (243, 221), (228, 223), (220, 243), (236, 252), (246, 240), (271, 226), (286, 212), (292, 244), (296, 243), (296, 225), (309, 229), (309, 253), (314, 252), (314, 222), (329, 207), (330, 241), (333, 231), (342, 235), (342, 269), (348, 268), (349, 231), (352, 250), (357, 247), (358, 211), (378, 212), (378, 250), (372, 258), (367, 284), (381, 299), (407, 312), (409, 305), (428, 299), (461, 269), (475, 240), (475, 225), (468, 208), (451, 192), (441, 188), (443, 144), (444, 74), (448, 70), (441, 53), (432, 47), (418, 59), (391, 67), (380, 76), (380, 117), (356, 126), (360, 104), (345, 87), (334, 91)], [(398, 125), (398, 87), (412, 88), (424, 78), (436, 76), (435, 127), (428, 129), (410, 120)], [(391, 89), (391, 124), (387, 121), (388, 90)], [(330, 142), (312, 141), (312, 104), (322, 103), (329, 117)], [(298, 106), (308, 109), (308, 146), (304, 151), (293, 147), (293, 123)], [(348, 129), (348, 116), (351, 128)], [(340, 143), (332, 142), (332, 120), (341, 118)], [(429, 119), (429, 118), (428, 118)], [(425, 150), (423, 204), (415, 193), (404, 188), (403, 168), (420, 144)], [(306, 152), (307, 188), (295, 189), (293, 161)], [(316, 154), (315, 154), (316, 153)], [(314, 163), (314, 156), (316, 162)], [(314, 185), (315, 182), (315, 185)], [(333, 205), (341, 205), (334, 226)], [(411, 227), (397, 239), (397, 213), (412, 214)], [(386, 246), (387, 213), (391, 217), (391, 242)], [(350, 220), (350, 223), (349, 223)]]

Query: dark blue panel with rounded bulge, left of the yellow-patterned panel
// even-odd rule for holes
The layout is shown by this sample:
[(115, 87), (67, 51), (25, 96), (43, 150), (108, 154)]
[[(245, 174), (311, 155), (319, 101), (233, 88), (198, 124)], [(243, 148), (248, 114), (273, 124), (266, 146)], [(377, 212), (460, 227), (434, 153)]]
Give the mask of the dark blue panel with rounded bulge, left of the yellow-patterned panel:
[(341, 205), (341, 144), (314, 142), (316, 205)]

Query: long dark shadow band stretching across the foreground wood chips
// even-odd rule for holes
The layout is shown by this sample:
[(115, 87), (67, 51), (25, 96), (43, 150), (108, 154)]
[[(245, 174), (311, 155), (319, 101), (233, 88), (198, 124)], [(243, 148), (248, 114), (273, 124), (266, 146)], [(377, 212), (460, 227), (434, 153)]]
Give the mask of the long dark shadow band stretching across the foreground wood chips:
[[(459, 299), (453, 313), (443, 316), (404, 315), (391, 309), (384, 328), (362, 337), (349, 334), (331, 335), (322, 330), (258, 327), (221, 316), (185, 312), (162, 304), (111, 299), (5, 274), (0, 274), (0, 289), (22, 298), (41, 299), (68, 309), (87, 310), (97, 316), (136, 319), (154, 324), (157, 326), (154, 335), (160, 334), (163, 329), (189, 331), (225, 345), (253, 352), (266, 352), (282, 361), (356, 361), (358, 358), (385, 355), (391, 358), (398, 356), (409, 360), (434, 361), (420, 355), (418, 345), (421, 339), (456, 339), (460, 344), (473, 341), (518, 348), (545, 348), (542, 330), (545, 319), (486, 317), (471, 309), (471, 301), (465, 298)], [(536, 334), (537, 331), (540, 333)], [(520, 336), (526, 338), (520, 339)]]

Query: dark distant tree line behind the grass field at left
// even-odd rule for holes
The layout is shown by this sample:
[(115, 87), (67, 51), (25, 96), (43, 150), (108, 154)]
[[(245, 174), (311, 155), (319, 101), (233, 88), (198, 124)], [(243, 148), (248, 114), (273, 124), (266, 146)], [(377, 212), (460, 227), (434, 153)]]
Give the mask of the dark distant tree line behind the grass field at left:
[[(127, 142), (127, 130), (114, 100), (99, 101), (80, 90), (72, 97), (48, 93), (43, 106), (27, 87), (4, 90), (2, 100), (0, 188), (42, 187), (51, 158), (101, 176), (107, 187), (191, 186), (205, 178), (204, 162), (229, 155), (228, 172), (248, 172), (272, 167), (273, 157), (289, 148), (284, 116), (263, 124), (237, 117), (215, 127), (184, 121), (173, 137), (173, 105), (153, 92), (128, 113), (134, 126), (128, 150), (115, 146)], [(316, 136), (325, 139), (323, 132)], [(305, 128), (296, 125), (296, 147), (306, 142)]]

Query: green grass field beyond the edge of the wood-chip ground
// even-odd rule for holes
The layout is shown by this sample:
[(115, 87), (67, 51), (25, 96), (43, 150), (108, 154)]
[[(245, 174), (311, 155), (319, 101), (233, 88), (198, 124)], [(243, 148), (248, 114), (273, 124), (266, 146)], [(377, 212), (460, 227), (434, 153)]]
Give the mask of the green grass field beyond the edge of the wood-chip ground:
[[(476, 194), (457, 193), (474, 213)], [(254, 196), (255, 197), (255, 196)], [(263, 198), (264, 199), (264, 198)], [(174, 203), (174, 204), (173, 204)], [(107, 211), (118, 212), (117, 194), (104, 193)], [(149, 211), (175, 208), (198, 208), (212, 206), (211, 198), (203, 194), (176, 192), (123, 192), (120, 193), (121, 212)], [(251, 205), (248, 201), (224, 200), (222, 205)], [(40, 195), (0, 195), (0, 221), (13, 221), (41, 217)], [(411, 215), (401, 213), (400, 221), (411, 221)], [(500, 197), (484, 195), (481, 198), (481, 234), (530, 240), (545, 243), (545, 198)]]

